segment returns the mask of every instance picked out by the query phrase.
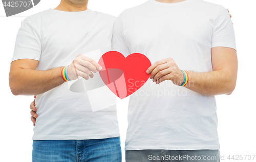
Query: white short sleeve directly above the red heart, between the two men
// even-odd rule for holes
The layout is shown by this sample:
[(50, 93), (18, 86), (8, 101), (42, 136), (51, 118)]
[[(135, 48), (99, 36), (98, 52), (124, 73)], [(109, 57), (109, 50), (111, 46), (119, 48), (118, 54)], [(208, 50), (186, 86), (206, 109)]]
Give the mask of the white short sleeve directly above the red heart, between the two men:
[(130, 55), (129, 49), (126, 45), (123, 31), (123, 17), (122, 13), (115, 21), (112, 37), (112, 50), (122, 53), (125, 57)]

